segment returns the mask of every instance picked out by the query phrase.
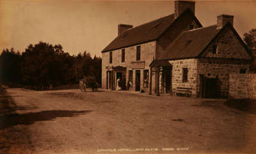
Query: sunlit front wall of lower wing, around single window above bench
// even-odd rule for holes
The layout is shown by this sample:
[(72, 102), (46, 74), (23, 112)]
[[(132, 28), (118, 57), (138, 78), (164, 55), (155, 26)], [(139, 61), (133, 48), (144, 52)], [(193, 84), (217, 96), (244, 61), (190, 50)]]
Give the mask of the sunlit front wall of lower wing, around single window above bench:
[[(183, 59), (170, 60), (172, 64), (172, 92), (177, 92), (177, 87), (192, 88), (192, 95), (196, 95), (198, 87), (198, 60)], [(188, 82), (182, 82), (182, 68), (188, 68)]]

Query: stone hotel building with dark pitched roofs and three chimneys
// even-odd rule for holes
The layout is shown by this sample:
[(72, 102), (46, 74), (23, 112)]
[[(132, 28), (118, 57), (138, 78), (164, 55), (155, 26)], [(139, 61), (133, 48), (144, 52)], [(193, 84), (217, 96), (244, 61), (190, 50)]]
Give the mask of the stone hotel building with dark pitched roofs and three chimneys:
[[(175, 1), (175, 13), (147, 24), (118, 25), (102, 50), (102, 88), (149, 94), (227, 97), (228, 74), (248, 73), (252, 52), (233, 27), (232, 15), (202, 27), (194, 1)], [(128, 84), (131, 83), (131, 84)]]

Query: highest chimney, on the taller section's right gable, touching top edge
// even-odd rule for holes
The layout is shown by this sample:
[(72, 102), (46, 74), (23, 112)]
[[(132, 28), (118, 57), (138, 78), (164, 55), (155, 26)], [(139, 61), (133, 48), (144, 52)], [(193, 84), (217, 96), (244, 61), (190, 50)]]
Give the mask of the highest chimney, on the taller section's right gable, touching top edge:
[(174, 18), (179, 17), (186, 9), (190, 9), (195, 15), (195, 1), (175, 1)]

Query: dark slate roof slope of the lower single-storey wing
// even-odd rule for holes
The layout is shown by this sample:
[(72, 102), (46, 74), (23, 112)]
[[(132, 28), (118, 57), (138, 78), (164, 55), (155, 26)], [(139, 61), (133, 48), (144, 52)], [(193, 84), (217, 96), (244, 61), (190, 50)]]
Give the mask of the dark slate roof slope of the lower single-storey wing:
[(221, 30), (216, 27), (212, 25), (182, 32), (159, 59), (184, 59), (198, 56)]

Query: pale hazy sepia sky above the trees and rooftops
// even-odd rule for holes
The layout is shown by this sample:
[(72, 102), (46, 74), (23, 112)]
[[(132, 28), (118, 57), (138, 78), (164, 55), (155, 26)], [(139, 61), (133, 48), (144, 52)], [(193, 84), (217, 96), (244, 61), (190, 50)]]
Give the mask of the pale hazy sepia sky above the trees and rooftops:
[[(77, 55), (101, 51), (116, 38), (118, 24), (135, 26), (174, 13), (174, 1), (0, 0), (0, 51), (24, 52), (44, 41)], [(195, 15), (204, 27), (221, 14), (234, 15), (234, 27), (256, 28), (256, 0), (196, 1)]]

